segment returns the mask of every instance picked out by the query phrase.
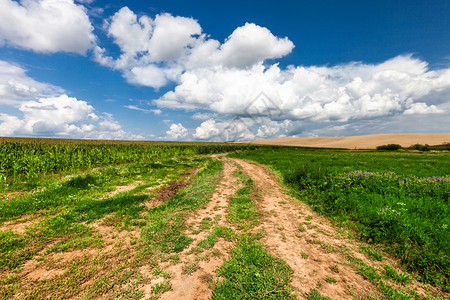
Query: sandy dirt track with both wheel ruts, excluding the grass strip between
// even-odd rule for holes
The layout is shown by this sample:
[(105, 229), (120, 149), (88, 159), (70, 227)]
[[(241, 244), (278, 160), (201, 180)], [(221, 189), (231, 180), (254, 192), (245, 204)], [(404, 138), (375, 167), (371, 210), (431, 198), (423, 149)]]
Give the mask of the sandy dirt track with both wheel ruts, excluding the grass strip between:
[[(264, 237), (261, 242), (268, 251), (283, 259), (294, 270), (292, 286), (299, 299), (306, 298), (307, 293), (314, 288), (331, 299), (379, 295), (377, 287), (364, 279), (346, 257), (362, 259), (366, 264), (378, 268), (381, 268), (380, 262), (367, 259), (358, 252), (355, 241), (343, 238), (328, 220), (315, 214), (306, 204), (286, 195), (278, 179), (265, 167), (237, 159), (224, 158), (223, 161), (224, 175), (211, 201), (189, 220), (193, 229), (205, 217), (218, 218), (218, 225), (232, 227), (225, 216), (227, 200), (240, 187), (238, 178), (234, 175), (238, 165), (253, 179), (259, 194), (256, 203), (262, 213), (262, 220), (254, 231), (262, 230)], [(231, 248), (231, 243), (220, 240), (214, 249), (221, 255), (200, 261), (198, 269), (192, 274), (182, 271), (183, 266), (191, 264), (195, 259), (190, 250), (208, 233), (206, 230), (191, 234), (195, 242), (179, 255), (181, 263), (166, 265), (165, 271), (171, 273), (172, 290), (164, 293), (161, 299), (211, 297), (211, 285), (217, 279), (214, 270), (229, 258), (227, 251)], [(389, 259), (383, 261), (383, 264), (386, 263), (396, 264)], [(327, 277), (334, 278), (336, 282), (328, 282)], [(418, 292), (424, 292), (417, 282), (414, 287), (418, 288)]]

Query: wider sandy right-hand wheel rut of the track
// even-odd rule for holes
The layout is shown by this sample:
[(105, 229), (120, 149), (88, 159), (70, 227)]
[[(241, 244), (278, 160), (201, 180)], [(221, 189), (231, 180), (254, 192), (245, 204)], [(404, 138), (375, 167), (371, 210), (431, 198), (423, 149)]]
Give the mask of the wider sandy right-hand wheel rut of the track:
[[(333, 251), (331, 247), (342, 249), (345, 242), (338, 237), (329, 221), (316, 215), (305, 204), (294, 204), (282, 192), (277, 178), (264, 167), (243, 160), (235, 161), (261, 192), (258, 206), (263, 219), (256, 229), (264, 230), (262, 242), (272, 255), (283, 259), (294, 270), (292, 285), (300, 298), (312, 288), (331, 299), (354, 299), (349, 295), (350, 291), (358, 295), (377, 294), (369, 281), (346, 264), (343, 254), (330, 252)], [(299, 228), (309, 229), (301, 232)], [(302, 253), (308, 257), (303, 258)], [(339, 273), (330, 269), (335, 265)], [(327, 277), (337, 282), (328, 283), (325, 281)]]

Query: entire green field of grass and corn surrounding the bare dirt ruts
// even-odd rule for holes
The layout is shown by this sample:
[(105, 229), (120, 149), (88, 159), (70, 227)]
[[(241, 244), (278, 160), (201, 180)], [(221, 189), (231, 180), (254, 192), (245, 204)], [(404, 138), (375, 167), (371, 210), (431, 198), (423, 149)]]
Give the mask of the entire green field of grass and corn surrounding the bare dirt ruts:
[[(190, 275), (224, 255), (214, 248), (222, 241), (231, 243), (214, 271), (222, 279), (202, 279), (213, 299), (295, 299), (292, 269), (255, 231), (264, 220), (259, 192), (240, 168), (226, 216), (192, 225), (223, 178), (212, 154), (268, 165), (297, 201), (351, 232), (374, 260), (397, 259), (406, 275), (383, 271), (397, 283), (414, 278), (448, 295), (449, 152), (10, 138), (0, 141), (0, 298), (158, 299), (173, 289), (164, 266), (193, 247), (196, 260), (181, 268)], [(370, 268), (359, 272), (370, 277)], [(326, 299), (319, 286), (304, 296)], [(381, 289), (383, 298), (422, 299)]]

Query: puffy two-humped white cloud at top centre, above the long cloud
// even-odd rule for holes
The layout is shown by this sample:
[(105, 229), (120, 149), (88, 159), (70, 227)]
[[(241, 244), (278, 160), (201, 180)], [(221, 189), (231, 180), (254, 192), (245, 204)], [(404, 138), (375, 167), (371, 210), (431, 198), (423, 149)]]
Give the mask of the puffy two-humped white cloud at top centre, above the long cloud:
[(210, 39), (193, 18), (159, 14), (137, 17), (128, 7), (121, 8), (106, 23), (105, 30), (120, 48), (119, 57), (108, 56), (97, 46), (97, 62), (119, 70), (128, 82), (160, 88), (177, 82), (186, 70), (200, 67), (250, 68), (266, 59), (292, 51), (287, 38), (274, 36), (267, 28), (246, 23), (223, 44)]

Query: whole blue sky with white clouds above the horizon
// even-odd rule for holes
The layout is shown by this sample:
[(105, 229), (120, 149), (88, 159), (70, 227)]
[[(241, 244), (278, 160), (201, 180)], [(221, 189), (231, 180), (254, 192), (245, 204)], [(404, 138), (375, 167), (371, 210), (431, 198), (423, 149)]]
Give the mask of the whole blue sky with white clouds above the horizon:
[(0, 0), (0, 136), (450, 133), (450, 1)]

